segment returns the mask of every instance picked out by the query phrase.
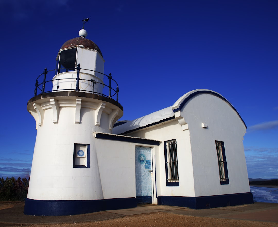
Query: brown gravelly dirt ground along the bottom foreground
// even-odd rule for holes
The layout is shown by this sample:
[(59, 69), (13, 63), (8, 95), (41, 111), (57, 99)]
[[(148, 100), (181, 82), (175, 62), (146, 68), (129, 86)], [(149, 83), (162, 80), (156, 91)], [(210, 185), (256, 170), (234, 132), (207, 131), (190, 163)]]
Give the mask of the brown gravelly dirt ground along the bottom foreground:
[[(19, 202), (20, 203), (20, 202)], [(0, 209), (11, 208), (16, 205), (13, 203), (0, 203)], [(1, 217), (0, 217), (1, 222)], [(3, 226), (3, 225), (1, 225)], [(7, 225), (14, 226), (14, 225)], [(231, 220), (222, 218), (203, 218), (187, 215), (178, 215), (166, 212), (156, 212), (138, 215), (128, 215), (121, 218), (109, 220), (93, 221), (93, 222), (78, 222), (78, 223), (51, 223), (51, 224), (34, 224), (20, 226), (278, 226), (278, 223), (261, 222), (261, 221), (244, 221)]]

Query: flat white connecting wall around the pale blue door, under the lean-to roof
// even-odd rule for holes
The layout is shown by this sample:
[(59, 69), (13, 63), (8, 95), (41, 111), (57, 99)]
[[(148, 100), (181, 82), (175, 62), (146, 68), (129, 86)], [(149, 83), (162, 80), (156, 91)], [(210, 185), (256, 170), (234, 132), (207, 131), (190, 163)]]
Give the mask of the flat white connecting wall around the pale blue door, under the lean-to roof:
[[(108, 139), (96, 139), (95, 146), (103, 198), (135, 198), (135, 146), (152, 147), (153, 151), (158, 146)], [(152, 170), (153, 160), (154, 152)], [(152, 186), (153, 176), (155, 172), (152, 173)], [(152, 193), (155, 194), (155, 188), (152, 188)], [(152, 197), (157, 204), (156, 195)]]

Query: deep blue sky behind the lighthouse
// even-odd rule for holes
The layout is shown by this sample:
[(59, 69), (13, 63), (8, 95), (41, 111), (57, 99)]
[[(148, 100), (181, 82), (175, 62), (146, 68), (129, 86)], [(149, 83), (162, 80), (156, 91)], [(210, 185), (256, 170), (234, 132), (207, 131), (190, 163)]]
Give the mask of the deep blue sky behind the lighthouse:
[(278, 1), (0, 1), (0, 177), (28, 176), (36, 139), (27, 112), (36, 77), (85, 29), (118, 82), (121, 120), (190, 90), (223, 95), (248, 129), (250, 178), (278, 178)]

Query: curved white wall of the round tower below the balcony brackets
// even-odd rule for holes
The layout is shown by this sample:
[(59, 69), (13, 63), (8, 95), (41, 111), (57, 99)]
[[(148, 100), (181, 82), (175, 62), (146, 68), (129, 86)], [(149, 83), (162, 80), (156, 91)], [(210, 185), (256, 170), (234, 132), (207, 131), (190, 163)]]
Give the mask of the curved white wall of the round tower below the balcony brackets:
[[(46, 110), (43, 126), (38, 128), (28, 198), (41, 200), (103, 198), (98, 169), (91, 171), (91, 168), (73, 168), (74, 143), (91, 144), (91, 150), (94, 150), (90, 127), (93, 117), (83, 116), (83, 121), (86, 118), (88, 124), (75, 124), (72, 120), (75, 108), (62, 108), (59, 124), (53, 124), (51, 112), (51, 109)], [(92, 167), (97, 166), (94, 156), (91, 152)]]

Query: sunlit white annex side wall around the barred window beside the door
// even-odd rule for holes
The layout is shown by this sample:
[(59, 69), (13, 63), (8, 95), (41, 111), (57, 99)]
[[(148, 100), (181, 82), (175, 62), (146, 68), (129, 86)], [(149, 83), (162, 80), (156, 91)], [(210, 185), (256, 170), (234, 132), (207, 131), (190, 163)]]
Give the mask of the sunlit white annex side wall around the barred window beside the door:
[[(195, 196), (190, 135), (188, 130), (182, 131), (177, 120), (127, 135), (162, 141), (155, 150), (157, 196)], [(179, 187), (166, 187), (164, 141), (172, 139), (177, 140)]]

